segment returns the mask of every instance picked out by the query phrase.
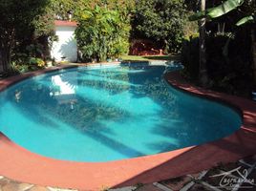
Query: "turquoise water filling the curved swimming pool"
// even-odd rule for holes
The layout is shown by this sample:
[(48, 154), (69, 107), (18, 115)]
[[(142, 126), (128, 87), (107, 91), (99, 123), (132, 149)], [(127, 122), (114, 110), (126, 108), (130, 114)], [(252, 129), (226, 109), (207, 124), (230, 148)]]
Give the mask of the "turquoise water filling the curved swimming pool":
[(239, 129), (232, 109), (170, 87), (165, 66), (132, 66), (19, 82), (0, 93), (0, 131), (42, 156), (96, 162), (199, 145)]

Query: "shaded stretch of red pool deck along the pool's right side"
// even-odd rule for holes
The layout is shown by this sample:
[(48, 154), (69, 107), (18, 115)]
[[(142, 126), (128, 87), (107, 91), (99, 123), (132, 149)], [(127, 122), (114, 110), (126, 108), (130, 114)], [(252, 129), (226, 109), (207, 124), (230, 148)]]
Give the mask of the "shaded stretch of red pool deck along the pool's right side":
[[(174, 76), (176, 75), (176, 76)], [(220, 93), (203, 90), (180, 80), (179, 74), (174, 74), (166, 79), (170, 79), (175, 87), (190, 91), (193, 95), (201, 95), (216, 100), (233, 103), (235, 108), (243, 108), (244, 124), (234, 134), (220, 140), (205, 143), (203, 145), (188, 148), (177, 156), (170, 154), (170, 159), (159, 165), (139, 173), (128, 180), (119, 182), (114, 187), (136, 185), (138, 183), (149, 183), (159, 180), (168, 180), (181, 177), (187, 174), (199, 173), (202, 170), (212, 168), (219, 163), (237, 161), (256, 153), (256, 107), (251, 101), (235, 97), (225, 96)], [(180, 89), (180, 88), (179, 88)], [(210, 95), (210, 96), (209, 96)], [(242, 114), (242, 111), (240, 109)]]

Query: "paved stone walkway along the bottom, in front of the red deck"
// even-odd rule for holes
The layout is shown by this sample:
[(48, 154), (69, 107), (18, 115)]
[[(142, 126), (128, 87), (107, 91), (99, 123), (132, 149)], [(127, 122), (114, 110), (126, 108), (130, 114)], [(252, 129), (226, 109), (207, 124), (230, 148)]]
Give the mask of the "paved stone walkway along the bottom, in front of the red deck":
[[(166, 169), (167, 170), (167, 169)], [(216, 175), (222, 175), (217, 176)], [(244, 178), (243, 178), (244, 176)], [(246, 182), (247, 181), (247, 182)], [(229, 182), (229, 183), (228, 183)], [(231, 184), (230, 184), (231, 183)], [(254, 183), (254, 184), (251, 184)], [(225, 186), (224, 186), (225, 185)], [(108, 189), (110, 191), (255, 191), (256, 190), (256, 155), (237, 162), (220, 164), (197, 174), (176, 179), (163, 180), (149, 184), (137, 184), (130, 187)], [(0, 176), (0, 191), (76, 191), (43, 187), (30, 183), (18, 182)], [(78, 191), (78, 190), (77, 190)]]

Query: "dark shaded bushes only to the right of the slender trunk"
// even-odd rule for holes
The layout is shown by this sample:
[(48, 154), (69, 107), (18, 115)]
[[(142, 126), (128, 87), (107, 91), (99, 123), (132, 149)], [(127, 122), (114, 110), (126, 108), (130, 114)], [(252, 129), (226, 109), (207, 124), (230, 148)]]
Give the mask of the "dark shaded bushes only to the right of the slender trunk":
[(233, 95), (249, 96), (252, 86), (250, 38), (245, 31), (230, 40), (227, 54), (226, 35), (207, 39), (207, 69), (213, 89)]

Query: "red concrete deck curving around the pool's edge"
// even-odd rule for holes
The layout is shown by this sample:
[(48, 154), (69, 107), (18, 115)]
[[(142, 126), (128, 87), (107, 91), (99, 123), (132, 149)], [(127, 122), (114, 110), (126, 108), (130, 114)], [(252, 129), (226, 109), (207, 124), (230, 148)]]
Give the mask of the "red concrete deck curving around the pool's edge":
[[(68, 66), (70, 67), (70, 66)], [(0, 91), (21, 79), (46, 71), (23, 74), (0, 81)], [(73, 162), (50, 159), (20, 147), (0, 135), (0, 174), (23, 182), (80, 190), (100, 190), (137, 183), (167, 180), (211, 168), (219, 162), (243, 159), (256, 153), (256, 103), (237, 96), (227, 96), (185, 83), (179, 73), (165, 75), (167, 81), (182, 91), (224, 101), (243, 115), (241, 128), (227, 138), (199, 146), (136, 159), (109, 162)]]

